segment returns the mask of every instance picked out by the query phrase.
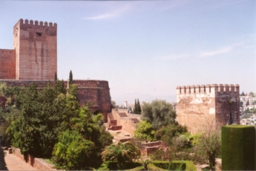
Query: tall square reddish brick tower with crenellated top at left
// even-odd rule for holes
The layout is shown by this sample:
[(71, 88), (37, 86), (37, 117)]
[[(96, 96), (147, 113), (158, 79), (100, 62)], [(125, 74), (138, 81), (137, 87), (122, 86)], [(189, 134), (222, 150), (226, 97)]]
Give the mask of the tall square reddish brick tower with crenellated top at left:
[(16, 80), (54, 80), (57, 24), (19, 19), (14, 26)]

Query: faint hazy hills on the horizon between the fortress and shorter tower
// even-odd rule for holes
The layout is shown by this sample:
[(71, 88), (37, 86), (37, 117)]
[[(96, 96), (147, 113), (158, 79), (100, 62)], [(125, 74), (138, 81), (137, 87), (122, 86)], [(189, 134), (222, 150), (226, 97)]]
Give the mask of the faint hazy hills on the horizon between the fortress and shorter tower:
[(124, 93), (120, 96), (112, 96), (111, 100), (115, 101), (117, 105), (123, 105), (124, 101), (128, 101), (128, 104), (134, 104), (135, 98), (138, 98), (139, 101), (151, 102), (153, 100), (160, 99), (167, 102), (176, 102), (176, 95), (172, 96), (153, 96), (151, 94), (137, 94), (137, 93)]

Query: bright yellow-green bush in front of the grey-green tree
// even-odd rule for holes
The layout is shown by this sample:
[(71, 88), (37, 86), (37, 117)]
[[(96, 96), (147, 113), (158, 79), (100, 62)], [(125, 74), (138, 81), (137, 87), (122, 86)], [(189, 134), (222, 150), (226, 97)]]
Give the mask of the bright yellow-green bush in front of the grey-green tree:
[(134, 136), (136, 139), (149, 142), (154, 139), (154, 129), (149, 122), (141, 121), (138, 123), (136, 131), (134, 131)]

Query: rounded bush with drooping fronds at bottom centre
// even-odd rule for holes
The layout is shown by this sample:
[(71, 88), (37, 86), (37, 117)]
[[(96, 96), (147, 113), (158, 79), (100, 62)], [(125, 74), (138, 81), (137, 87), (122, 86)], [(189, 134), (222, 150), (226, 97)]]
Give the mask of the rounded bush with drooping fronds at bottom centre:
[(141, 151), (131, 142), (111, 144), (102, 152), (103, 161), (117, 161), (119, 169), (123, 169), (125, 162), (133, 162), (139, 157), (141, 157)]

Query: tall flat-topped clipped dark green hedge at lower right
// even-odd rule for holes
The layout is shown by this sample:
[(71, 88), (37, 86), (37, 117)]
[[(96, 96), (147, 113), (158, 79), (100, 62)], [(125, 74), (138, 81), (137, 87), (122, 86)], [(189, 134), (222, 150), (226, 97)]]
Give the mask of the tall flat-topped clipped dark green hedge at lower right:
[(221, 128), (222, 170), (255, 170), (255, 126)]

